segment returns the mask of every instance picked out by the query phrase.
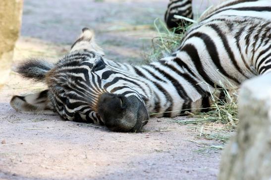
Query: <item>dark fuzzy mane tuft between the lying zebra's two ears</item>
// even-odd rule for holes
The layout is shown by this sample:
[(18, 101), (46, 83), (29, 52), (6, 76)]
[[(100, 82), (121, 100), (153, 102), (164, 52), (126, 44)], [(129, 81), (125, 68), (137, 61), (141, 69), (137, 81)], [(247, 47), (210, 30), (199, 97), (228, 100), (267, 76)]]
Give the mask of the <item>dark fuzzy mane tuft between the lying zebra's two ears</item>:
[(21, 74), (23, 77), (31, 78), (36, 81), (43, 81), (46, 73), (49, 72), (53, 67), (53, 63), (32, 59), (21, 63), (15, 71)]

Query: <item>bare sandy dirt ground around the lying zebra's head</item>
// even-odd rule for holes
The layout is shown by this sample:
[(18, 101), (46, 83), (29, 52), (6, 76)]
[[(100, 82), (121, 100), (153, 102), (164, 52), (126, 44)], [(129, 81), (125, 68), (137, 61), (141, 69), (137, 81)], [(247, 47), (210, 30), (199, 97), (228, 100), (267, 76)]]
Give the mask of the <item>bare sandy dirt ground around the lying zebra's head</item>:
[[(107, 58), (140, 63), (143, 47), (151, 44), (141, 37), (156, 36), (152, 24), (163, 18), (166, 4), (167, 0), (24, 0), (14, 65), (29, 57), (56, 61), (83, 27), (95, 30)], [(151, 118), (141, 133), (114, 133), (9, 106), (12, 95), (44, 88), (12, 72), (0, 91), (0, 180), (216, 180), (221, 150), (209, 147), (224, 144), (203, 138), (210, 133), (207, 127)]]

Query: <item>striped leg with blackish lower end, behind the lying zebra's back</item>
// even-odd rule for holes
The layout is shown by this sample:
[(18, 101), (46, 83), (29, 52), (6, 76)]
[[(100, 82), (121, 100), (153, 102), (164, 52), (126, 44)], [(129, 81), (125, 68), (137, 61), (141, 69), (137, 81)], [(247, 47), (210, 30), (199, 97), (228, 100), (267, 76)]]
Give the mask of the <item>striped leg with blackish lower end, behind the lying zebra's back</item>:
[(193, 19), (192, 0), (169, 0), (164, 21), (169, 29), (175, 29), (175, 33), (183, 33), (184, 27), (191, 24), (183, 19), (176, 19), (174, 15)]

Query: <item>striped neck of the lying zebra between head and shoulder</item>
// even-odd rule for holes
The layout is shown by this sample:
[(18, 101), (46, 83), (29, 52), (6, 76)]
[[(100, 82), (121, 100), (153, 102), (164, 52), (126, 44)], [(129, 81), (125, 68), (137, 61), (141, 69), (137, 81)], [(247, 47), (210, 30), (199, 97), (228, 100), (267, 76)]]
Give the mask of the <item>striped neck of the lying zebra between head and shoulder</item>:
[(194, 72), (175, 56), (149, 65), (122, 66), (145, 84), (146, 87), (137, 90), (145, 92), (145, 104), (150, 114), (171, 117), (210, 106), (209, 93), (199, 85)]

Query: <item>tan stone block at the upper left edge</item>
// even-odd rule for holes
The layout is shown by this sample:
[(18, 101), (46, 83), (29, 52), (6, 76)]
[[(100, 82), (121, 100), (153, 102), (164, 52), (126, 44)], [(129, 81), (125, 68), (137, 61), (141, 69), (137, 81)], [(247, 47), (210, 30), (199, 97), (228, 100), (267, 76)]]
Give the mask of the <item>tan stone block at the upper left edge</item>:
[(19, 36), (23, 0), (0, 0), (0, 88), (8, 78)]

